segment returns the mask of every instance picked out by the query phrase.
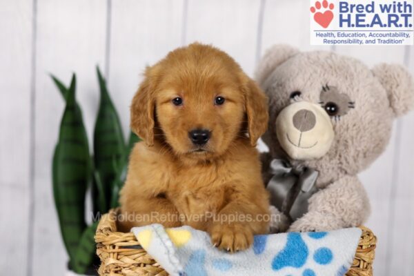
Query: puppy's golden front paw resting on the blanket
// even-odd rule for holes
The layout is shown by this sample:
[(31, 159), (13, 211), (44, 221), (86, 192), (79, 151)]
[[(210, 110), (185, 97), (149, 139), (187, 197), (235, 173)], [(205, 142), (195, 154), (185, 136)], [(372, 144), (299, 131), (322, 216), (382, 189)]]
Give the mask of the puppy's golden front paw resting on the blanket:
[(252, 230), (243, 224), (213, 224), (208, 232), (213, 245), (228, 252), (245, 250), (253, 244)]

